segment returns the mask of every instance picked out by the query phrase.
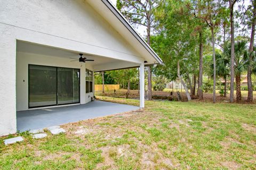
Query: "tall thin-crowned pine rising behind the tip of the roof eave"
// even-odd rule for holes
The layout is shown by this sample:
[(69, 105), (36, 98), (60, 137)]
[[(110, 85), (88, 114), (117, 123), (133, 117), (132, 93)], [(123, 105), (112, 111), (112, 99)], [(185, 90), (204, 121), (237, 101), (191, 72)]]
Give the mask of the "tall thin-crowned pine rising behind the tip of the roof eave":
[[(161, 3), (160, 0), (117, 0), (117, 8), (134, 25), (142, 25), (147, 28), (147, 43), (150, 45), (151, 30), (157, 23), (154, 10)], [(148, 70), (148, 99), (152, 99), (151, 67)]]

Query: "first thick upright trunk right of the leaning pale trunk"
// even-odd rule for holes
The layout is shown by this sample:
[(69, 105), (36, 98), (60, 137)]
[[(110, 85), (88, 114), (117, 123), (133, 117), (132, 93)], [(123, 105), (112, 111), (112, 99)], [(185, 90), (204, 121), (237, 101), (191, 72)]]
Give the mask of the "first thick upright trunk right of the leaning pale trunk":
[(198, 77), (198, 97), (199, 99), (203, 99), (203, 32), (202, 30), (199, 32), (199, 77)]

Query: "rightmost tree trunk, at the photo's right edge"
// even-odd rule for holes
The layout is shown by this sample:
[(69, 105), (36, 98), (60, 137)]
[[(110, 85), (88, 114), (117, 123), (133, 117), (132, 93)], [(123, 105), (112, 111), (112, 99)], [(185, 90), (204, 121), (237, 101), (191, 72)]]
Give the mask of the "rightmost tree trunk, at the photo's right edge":
[(247, 101), (253, 101), (253, 89), (252, 89), (252, 52), (254, 45), (254, 35), (255, 35), (255, 23), (256, 23), (256, 0), (253, 1), (253, 19), (252, 19), (252, 31), (251, 31), (251, 39), (250, 39), (250, 47), (249, 47), (249, 67), (247, 70), (247, 86), (248, 86), (248, 96)]

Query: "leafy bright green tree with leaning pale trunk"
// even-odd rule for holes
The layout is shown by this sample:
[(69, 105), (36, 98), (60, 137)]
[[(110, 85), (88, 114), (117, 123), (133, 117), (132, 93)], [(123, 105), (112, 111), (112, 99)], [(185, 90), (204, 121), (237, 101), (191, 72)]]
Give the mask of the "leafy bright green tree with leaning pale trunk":
[(197, 37), (195, 33), (196, 23), (190, 15), (184, 1), (165, 1), (159, 8), (159, 34), (152, 37), (152, 47), (162, 57), (165, 65), (159, 66), (157, 74), (163, 74), (169, 80), (179, 78), (185, 88), (188, 100), (191, 100), (188, 88), (183, 78), (189, 68), (194, 66), (197, 60), (196, 53)]

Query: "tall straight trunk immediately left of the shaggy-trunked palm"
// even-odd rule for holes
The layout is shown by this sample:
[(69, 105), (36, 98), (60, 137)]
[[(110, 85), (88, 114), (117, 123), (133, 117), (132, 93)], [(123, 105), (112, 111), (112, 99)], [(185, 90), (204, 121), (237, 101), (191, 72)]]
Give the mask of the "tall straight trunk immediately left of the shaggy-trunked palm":
[(234, 28), (234, 2), (229, 0), (230, 29), (231, 29), (231, 60), (230, 60), (230, 103), (234, 102), (234, 78), (235, 78), (235, 28)]

